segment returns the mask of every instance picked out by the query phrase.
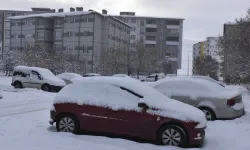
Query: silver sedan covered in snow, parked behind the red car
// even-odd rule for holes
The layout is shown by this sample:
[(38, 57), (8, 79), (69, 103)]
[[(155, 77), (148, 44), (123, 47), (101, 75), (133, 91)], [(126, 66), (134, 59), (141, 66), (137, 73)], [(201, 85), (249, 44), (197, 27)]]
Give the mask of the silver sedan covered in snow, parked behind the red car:
[(165, 78), (150, 86), (169, 98), (201, 109), (207, 120), (234, 119), (245, 113), (240, 92), (204, 79)]

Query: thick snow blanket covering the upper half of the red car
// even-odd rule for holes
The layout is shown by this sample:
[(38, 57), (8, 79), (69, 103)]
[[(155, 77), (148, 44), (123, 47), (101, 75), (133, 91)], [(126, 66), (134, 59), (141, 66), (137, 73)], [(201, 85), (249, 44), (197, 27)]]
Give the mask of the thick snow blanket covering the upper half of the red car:
[(195, 121), (200, 127), (206, 126), (205, 115), (199, 109), (169, 99), (140, 81), (120, 77), (86, 77), (78, 80), (78, 83), (63, 88), (55, 97), (54, 104), (77, 103), (108, 107), (113, 110), (140, 111), (139, 102), (146, 103), (150, 108), (159, 109), (148, 110), (149, 113), (186, 122)]

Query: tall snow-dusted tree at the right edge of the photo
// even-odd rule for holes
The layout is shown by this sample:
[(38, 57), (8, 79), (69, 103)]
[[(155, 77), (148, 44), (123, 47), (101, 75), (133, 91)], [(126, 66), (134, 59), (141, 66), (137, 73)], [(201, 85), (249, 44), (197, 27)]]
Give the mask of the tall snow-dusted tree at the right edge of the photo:
[(249, 78), (250, 9), (246, 16), (236, 19), (235, 23), (231, 24), (229, 34), (221, 38), (220, 45), (225, 55), (227, 82), (241, 83), (244, 78)]

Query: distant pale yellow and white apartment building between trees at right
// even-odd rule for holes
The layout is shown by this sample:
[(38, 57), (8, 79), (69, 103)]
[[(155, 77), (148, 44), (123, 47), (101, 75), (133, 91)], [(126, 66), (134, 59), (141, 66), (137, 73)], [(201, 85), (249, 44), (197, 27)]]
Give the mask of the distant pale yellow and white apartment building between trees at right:
[[(220, 81), (223, 81), (224, 77), (224, 55), (222, 55), (222, 48), (219, 46), (219, 40), (221, 37), (207, 37), (206, 41), (198, 42), (193, 46), (193, 60), (200, 59), (204, 60), (205, 56), (211, 56), (219, 64), (219, 69), (217, 71), (217, 76)], [(196, 70), (194, 69), (196, 62), (193, 61), (193, 73), (195, 74)]]

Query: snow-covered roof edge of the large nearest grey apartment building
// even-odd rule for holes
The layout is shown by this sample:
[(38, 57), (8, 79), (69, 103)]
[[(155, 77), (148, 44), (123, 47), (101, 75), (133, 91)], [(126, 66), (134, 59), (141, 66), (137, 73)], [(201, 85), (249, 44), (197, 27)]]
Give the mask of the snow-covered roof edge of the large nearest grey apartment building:
[(92, 13), (96, 13), (99, 14), (103, 17), (111, 17), (112, 19), (115, 19), (127, 26), (130, 27), (129, 24), (113, 17), (110, 15), (106, 15), (106, 14), (100, 14), (96, 11), (74, 11), (74, 12), (56, 12), (56, 13), (42, 13), (42, 14), (32, 14), (32, 15), (24, 15), (24, 16), (13, 16), (13, 17), (9, 17), (8, 19), (10, 20), (19, 20), (19, 19), (26, 19), (26, 18), (35, 18), (35, 17), (42, 17), (42, 18), (53, 18), (53, 17), (67, 17), (67, 16), (79, 16), (79, 15), (87, 15), (87, 14), (92, 14)]

